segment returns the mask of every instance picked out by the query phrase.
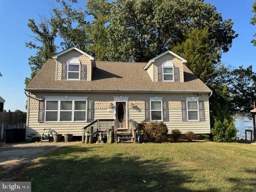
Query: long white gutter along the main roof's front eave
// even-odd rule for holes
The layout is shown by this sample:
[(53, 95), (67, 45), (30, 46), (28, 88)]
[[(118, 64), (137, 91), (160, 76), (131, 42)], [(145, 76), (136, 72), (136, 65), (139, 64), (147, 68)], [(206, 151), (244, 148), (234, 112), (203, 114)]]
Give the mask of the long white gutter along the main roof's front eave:
[(128, 89), (99, 89), (99, 90), (92, 90), (92, 89), (80, 89), (80, 90), (74, 90), (74, 89), (30, 89), (25, 88), (26, 91), (38, 91), (38, 92), (154, 92), (154, 93), (211, 93), (212, 91), (200, 91), (200, 90), (128, 90)]

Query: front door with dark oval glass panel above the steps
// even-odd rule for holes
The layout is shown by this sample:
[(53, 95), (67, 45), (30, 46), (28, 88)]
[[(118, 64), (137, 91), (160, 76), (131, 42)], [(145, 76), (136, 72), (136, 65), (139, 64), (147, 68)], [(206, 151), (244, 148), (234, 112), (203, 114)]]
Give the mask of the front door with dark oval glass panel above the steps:
[(118, 129), (127, 129), (126, 102), (116, 102), (116, 126)]

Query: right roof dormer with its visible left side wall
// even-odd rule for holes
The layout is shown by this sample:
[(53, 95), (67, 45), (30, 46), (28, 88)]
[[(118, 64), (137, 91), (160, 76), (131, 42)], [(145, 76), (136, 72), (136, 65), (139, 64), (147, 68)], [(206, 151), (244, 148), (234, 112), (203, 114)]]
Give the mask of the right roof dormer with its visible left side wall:
[(168, 50), (150, 59), (144, 70), (147, 70), (153, 82), (184, 82), (183, 63), (186, 62)]

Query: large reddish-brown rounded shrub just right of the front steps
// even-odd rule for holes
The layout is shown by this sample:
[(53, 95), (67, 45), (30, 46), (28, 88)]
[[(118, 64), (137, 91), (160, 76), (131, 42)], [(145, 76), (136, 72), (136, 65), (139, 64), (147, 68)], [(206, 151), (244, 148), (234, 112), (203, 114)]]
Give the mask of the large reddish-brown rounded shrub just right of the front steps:
[(148, 142), (162, 143), (166, 140), (168, 129), (163, 122), (150, 122), (144, 124), (143, 138)]

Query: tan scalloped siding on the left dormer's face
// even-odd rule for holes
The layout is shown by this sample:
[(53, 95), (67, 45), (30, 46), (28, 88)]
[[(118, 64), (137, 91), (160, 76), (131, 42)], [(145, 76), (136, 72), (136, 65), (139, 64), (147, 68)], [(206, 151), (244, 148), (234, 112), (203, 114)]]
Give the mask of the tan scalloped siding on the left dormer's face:
[(61, 80), (62, 78), (62, 64), (66, 64), (70, 58), (78, 58), (82, 65), (86, 65), (86, 80), (92, 80), (92, 62), (90, 58), (76, 50), (72, 50), (58, 57), (57, 80)]

